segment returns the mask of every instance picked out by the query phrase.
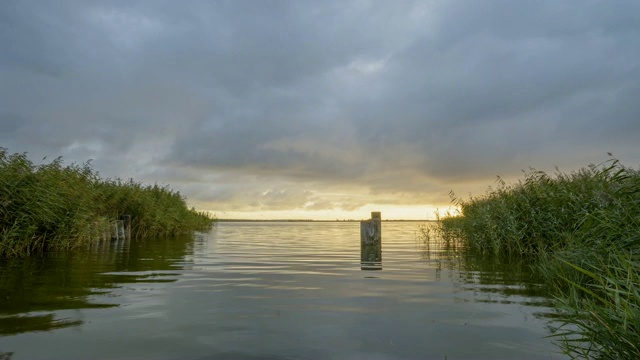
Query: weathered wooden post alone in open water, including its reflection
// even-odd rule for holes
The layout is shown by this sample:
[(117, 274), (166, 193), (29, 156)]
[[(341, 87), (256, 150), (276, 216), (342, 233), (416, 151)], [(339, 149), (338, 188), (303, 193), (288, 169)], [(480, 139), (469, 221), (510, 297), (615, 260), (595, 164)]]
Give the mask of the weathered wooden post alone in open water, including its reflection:
[(382, 270), (382, 217), (378, 211), (360, 222), (360, 269)]

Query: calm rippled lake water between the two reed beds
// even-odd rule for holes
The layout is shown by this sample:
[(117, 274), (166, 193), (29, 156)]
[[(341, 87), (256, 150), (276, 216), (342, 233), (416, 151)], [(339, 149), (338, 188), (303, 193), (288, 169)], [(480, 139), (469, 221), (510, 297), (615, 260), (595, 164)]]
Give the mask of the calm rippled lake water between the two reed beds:
[(0, 358), (562, 359), (524, 265), (426, 251), (382, 225), (219, 223), (209, 234), (0, 263)]

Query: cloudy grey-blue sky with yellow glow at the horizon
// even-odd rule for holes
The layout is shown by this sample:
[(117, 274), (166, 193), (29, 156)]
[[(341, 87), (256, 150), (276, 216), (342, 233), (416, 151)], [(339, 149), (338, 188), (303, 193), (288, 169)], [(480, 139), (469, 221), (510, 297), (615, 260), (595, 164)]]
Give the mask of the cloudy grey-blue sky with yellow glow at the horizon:
[(430, 219), (640, 164), (637, 0), (3, 0), (0, 49), (1, 147), (221, 219)]

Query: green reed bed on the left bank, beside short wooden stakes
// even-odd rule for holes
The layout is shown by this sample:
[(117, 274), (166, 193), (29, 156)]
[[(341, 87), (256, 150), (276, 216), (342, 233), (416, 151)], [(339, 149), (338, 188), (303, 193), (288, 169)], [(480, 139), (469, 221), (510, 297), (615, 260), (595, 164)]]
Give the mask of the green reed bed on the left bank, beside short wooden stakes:
[(133, 238), (173, 236), (214, 222), (167, 186), (101, 179), (89, 162), (34, 165), (26, 153), (0, 148), (0, 257), (89, 244), (123, 214), (131, 215)]

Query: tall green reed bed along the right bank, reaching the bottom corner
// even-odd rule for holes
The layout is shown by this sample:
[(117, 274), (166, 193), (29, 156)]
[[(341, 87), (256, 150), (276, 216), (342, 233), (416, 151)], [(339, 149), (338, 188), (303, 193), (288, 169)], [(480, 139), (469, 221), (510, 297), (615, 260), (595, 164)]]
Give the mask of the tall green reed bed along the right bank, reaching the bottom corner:
[(460, 212), (441, 219), (438, 235), (482, 256), (528, 258), (556, 298), (566, 354), (640, 359), (638, 170), (616, 159), (570, 174), (532, 170), (452, 198)]

